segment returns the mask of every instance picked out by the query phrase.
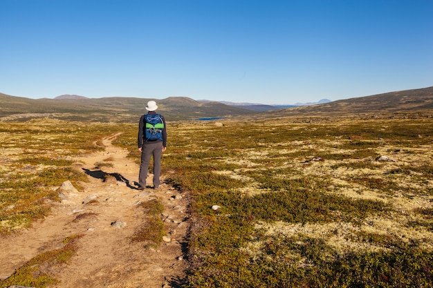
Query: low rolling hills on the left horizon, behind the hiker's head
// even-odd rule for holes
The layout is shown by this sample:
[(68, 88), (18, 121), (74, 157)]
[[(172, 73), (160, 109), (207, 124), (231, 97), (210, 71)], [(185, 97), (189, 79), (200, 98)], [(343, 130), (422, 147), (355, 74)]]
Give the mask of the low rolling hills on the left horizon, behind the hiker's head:
[(28, 99), (0, 93), (0, 119), (26, 120), (35, 117), (53, 117), (64, 120), (96, 122), (135, 122), (147, 112), (147, 101), (156, 100), (158, 112), (167, 121), (197, 119), (201, 117), (231, 117), (250, 115), (255, 111), (221, 104), (201, 103), (188, 97), (142, 99), (134, 97), (86, 98), (57, 97), (55, 99)]

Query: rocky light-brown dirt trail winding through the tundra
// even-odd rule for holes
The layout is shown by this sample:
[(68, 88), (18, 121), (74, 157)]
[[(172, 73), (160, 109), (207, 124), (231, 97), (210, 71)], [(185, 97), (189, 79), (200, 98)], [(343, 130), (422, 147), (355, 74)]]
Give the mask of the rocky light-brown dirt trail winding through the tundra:
[[(76, 168), (89, 175), (84, 189), (69, 193), (53, 213), (35, 222), (33, 228), (0, 240), (0, 277), (8, 276), (38, 253), (75, 234), (84, 234), (68, 265), (56, 271), (53, 287), (178, 287), (185, 276), (183, 258), (188, 227), (187, 197), (172, 186), (158, 191), (136, 189), (138, 165), (127, 151), (111, 144), (118, 135), (102, 141), (104, 152), (77, 159)], [(95, 163), (113, 166), (95, 168)], [(147, 182), (151, 183), (149, 175)], [(177, 197), (176, 197), (177, 196)], [(181, 197), (179, 197), (181, 196)], [(158, 249), (145, 249), (130, 238), (145, 221), (138, 203), (159, 198), (165, 206), (162, 217), (169, 242)], [(126, 223), (116, 227), (114, 222)]]

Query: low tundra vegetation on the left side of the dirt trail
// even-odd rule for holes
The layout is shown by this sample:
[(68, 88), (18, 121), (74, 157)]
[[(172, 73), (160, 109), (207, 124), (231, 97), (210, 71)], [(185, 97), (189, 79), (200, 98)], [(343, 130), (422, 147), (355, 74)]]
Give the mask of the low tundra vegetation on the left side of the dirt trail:
[[(0, 237), (30, 227), (58, 202), (57, 188), (66, 180), (75, 187), (87, 182), (74, 169), (74, 156), (102, 150), (100, 140), (119, 125), (37, 119), (2, 122), (0, 128)], [(57, 280), (50, 271), (65, 265), (75, 253), (80, 235), (57, 243), (60, 247), (29, 260), (0, 287), (46, 287)]]

